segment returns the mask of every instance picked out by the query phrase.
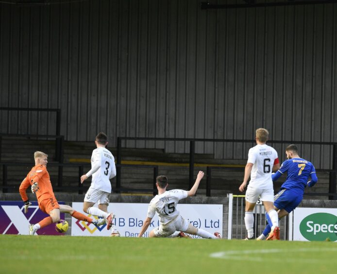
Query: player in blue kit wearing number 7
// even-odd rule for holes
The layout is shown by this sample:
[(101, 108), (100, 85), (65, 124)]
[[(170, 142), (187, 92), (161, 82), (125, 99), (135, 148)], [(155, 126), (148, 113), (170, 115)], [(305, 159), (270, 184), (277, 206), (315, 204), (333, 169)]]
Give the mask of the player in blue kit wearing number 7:
[[(281, 168), (271, 176), (272, 180), (276, 181), (287, 172), (286, 181), (274, 197), (274, 208), (279, 219), (293, 211), (303, 200), (304, 188), (313, 187), (318, 180), (314, 165), (298, 155), (297, 146), (289, 145), (286, 148), (286, 157), (288, 159), (283, 162)], [(310, 181), (308, 181), (309, 178), (311, 178)], [(270, 233), (268, 213), (266, 213), (266, 218), (268, 224), (256, 240), (265, 240)], [(269, 237), (266, 240), (270, 240)]]

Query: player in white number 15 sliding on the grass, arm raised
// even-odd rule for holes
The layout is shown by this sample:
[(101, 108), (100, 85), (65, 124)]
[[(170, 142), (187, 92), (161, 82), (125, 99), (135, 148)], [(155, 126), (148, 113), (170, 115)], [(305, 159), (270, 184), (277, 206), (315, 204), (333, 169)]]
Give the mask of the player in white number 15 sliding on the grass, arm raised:
[[(215, 232), (213, 235), (206, 230), (194, 227), (180, 216), (179, 211), (177, 210), (179, 200), (195, 195), (203, 174), (202, 171), (199, 171), (197, 180), (189, 191), (182, 189), (166, 191), (166, 188), (168, 187), (168, 178), (163, 175), (158, 176), (156, 183), (158, 195), (156, 195), (150, 202), (147, 218), (143, 223), (138, 237), (143, 236), (157, 212), (160, 225), (150, 232), (149, 237), (169, 237), (176, 231), (182, 231), (206, 239), (221, 239), (221, 234), (219, 232)], [(180, 235), (183, 235), (183, 237), (185, 236), (182, 233), (180, 233)]]

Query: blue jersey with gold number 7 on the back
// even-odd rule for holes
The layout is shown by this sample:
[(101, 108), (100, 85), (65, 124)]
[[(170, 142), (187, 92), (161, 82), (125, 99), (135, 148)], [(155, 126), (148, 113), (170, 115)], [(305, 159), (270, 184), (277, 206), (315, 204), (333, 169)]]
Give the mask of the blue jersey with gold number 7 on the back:
[[(312, 173), (316, 173), (312, 163), (302, 158), (292, 158), (284, 161), (281, 168), (277, 171), (281, 174), (287, 172), (286, 181), (281, 188), (291, 189), (299, 195), (303, 196), (304, 188), (307, 186), (308, 180)], [(273, 174), (272, 179), (277, 179), (281, 174)], [(315, 174), (316, 177), (316, 174)]]

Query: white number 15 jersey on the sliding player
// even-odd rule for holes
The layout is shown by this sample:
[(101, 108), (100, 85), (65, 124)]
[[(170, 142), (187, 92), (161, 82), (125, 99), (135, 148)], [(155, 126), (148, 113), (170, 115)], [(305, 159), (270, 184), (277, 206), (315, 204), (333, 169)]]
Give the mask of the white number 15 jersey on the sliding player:
[(161, 224), (169, 223), (180, 215), (177, 210), (177, 204), (179, 200), (185, 199), (186, 197), (187, 191), (182, 189), (172, 189), (154, 196), (148, 208), (148, 217), (153, 218), (157, 212)]

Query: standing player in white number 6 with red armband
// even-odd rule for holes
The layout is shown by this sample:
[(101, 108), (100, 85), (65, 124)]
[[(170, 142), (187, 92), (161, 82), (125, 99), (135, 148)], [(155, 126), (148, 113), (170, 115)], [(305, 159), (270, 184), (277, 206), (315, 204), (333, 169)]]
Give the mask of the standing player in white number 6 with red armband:
[(253, 209), (259, 197), (268, 212), (268, 218), (270, 218), (268, 221), (272, 223), (270, 240), (280, 240), (280, 228), (278, 226), (278, 215), (274, 209), (274, 189), (271, 180), (271, 172), (277, 171), (280, 168), (280, 163), (276, 150), (266, 145), (268, 136), (268, 130), (264, 128), (256, 130), (255, 140), (257, 145), (249, 150), (243, 183), (239, 187), (239, 190), (243, 192), (249, 177), (251, 177), (245, 198), (245, 225), (248, 234), (245, 240), (254, 238)]

